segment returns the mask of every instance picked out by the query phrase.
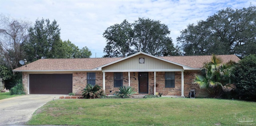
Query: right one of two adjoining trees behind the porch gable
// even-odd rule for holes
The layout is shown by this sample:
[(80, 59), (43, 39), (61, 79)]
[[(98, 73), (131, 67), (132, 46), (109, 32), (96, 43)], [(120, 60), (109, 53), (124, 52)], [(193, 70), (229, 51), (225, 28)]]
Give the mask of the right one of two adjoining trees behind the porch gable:
[(160, 56), (166, 45), (172, 43), (168, 37), (170, 31), (168, 26), (161, 24), (160, 21), (154, 21), (139, 18), (133, 24), (134, 26), (134, 51), (142, 51), (154, 56)]

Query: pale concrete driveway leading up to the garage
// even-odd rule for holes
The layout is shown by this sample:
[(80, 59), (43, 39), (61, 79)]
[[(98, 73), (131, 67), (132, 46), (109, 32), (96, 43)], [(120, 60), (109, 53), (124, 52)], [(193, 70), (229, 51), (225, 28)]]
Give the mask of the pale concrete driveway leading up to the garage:
[[(0, 126), (24, 125), (41, 106), (64, 95), (22, 95), (0, 100)], [(66, 95), (65, 95), (66, 96)]]

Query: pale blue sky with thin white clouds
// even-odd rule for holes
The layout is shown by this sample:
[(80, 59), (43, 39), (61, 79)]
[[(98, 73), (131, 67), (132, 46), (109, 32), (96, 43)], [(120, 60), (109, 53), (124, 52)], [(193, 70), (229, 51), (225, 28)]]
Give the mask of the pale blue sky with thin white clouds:
[(218, 10), (256, 6), (256, 0), (0, 0), (0, 13), (29, 20), (54, 19), (61, 28), (61, 39), (79, 48), (87, 46), (92, 57), (102, 57), (104, 31), (123, 20), (160, 20), (171, 31), (174, 45), (188, 24), (206, 20)]

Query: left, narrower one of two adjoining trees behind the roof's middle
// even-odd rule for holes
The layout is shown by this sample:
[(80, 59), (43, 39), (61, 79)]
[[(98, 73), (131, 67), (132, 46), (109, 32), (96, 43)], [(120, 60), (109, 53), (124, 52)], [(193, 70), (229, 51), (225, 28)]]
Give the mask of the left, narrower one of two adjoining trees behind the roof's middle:
[(103, 52), (104, 57), (126, 57), (129, 55), (132, 46), (133, 31), (132, 25), (124, 20), (121, 24), (110, 26), (103, 33), (106, 38), (107, 45)]

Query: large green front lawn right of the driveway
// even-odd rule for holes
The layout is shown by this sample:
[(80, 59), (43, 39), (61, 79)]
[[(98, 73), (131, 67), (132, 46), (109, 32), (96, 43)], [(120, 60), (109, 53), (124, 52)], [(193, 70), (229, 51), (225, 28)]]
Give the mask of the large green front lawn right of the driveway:
[[(237, 116), (236, 116), (237, 115)], [(203, 98), (62, 99), (39, 108), (28, 125), (226, 126), (242, 115), (256, 124), (256, 102)], [(240, 123), (240, 122), (238, 122)]]

